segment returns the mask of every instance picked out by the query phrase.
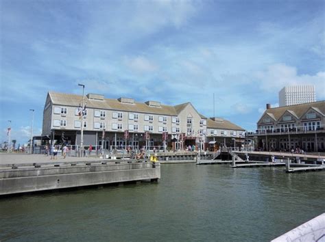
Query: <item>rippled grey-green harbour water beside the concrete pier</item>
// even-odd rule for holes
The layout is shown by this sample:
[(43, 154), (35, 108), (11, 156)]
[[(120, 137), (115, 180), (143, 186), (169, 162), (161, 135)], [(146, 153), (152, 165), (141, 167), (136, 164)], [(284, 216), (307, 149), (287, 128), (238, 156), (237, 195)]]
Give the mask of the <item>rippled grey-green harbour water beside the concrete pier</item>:
[(158, 183), (0, 200), (0, 240), (269, 241), (325, 212), (325, 172), (162, 165)]

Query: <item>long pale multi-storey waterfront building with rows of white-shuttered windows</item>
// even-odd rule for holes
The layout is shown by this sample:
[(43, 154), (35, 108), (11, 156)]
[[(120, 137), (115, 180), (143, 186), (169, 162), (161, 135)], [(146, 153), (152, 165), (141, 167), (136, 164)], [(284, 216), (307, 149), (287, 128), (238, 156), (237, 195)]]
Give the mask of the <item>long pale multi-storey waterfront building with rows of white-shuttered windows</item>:
[(191, 103), (138, 103), (132, 98), (108, 99), (99, 94), (87, 94), (85, 103), (81, 118), (82, 96), (49, 92), (43, 112), (43, 136), (49, 137), (51, 144), (78, 146), (82, 128), (84, 146), (108, 150), (126, 146), (158, 150), (197, 146), (206, 150), (209, 142), (227, 145), (245, 136), (239, 126), (206, 118)]

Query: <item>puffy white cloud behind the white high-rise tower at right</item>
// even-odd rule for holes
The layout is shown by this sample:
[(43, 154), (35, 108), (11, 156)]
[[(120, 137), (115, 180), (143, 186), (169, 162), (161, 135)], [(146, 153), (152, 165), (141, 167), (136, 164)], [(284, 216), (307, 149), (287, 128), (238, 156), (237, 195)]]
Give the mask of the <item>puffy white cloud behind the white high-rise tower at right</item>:
[(263, 91), (278, 92), (285, 85), (315, 85), (316, 98), (325, 98), (325, 72), (317, 72), (316, 75), (298, 75), (296, 67), (285, 64), (274, 64), (267, 70), (258, 71), (254, 75), (258, 85)]

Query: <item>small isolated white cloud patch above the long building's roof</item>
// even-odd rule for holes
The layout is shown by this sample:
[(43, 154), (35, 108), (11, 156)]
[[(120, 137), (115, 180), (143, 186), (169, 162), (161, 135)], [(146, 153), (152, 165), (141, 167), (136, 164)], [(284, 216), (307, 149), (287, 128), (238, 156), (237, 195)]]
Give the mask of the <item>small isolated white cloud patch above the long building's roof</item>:
[(125, 57), (124, 63), (131, 70), (137, 73), (153, 72), (158, 70), (158, 66), (154, 64), (154, 62), (149, 61), (149, 59), (143, 56)]

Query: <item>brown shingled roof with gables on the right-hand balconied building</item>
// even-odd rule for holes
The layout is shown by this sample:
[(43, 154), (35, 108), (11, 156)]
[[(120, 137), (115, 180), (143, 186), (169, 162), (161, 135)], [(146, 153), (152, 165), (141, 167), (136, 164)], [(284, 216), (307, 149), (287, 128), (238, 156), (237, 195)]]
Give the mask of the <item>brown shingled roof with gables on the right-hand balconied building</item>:
[[(309, 109), (314, 109), (315, 111), (319, 112), (323, 116), (325, 115), (325, 100), (314, 102), (314, 103), (303, 103), (303, 104), (298, 104), (298, 105), (290, 105), (290, 106), (284, 106), (284, 107), (274, 107), (270, 109), (266, 109), (261, 116), (265, 116), (265, 114), (271, 116), (274, 118), (274, 120), (279, 120), (282, 115), (286, 112), (289, 111), (293, 116), (296, 116), (296, 118), (301, 118), (306, 111)], [(261, 121), (258, 120), (258, 122)]]

